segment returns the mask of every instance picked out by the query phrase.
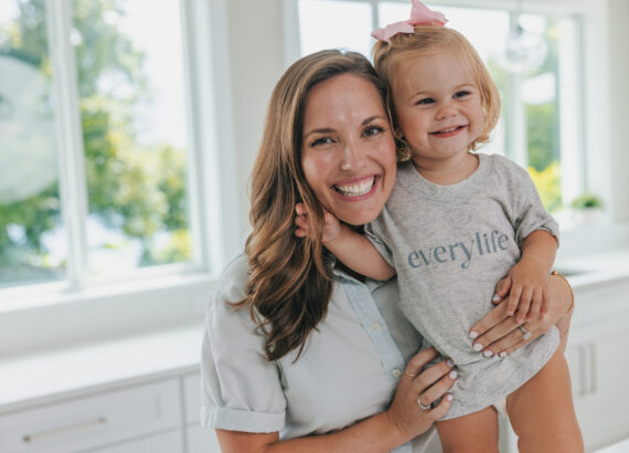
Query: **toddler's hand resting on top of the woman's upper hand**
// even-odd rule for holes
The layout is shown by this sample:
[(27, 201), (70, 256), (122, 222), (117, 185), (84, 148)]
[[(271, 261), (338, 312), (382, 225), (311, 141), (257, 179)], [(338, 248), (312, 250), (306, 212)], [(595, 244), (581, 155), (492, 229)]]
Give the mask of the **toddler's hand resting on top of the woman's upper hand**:
[(534, 257), (522, 257), (507, 278), (501, 282), (497, 296), (503, 297), (509, 292), (507, 313), (513, 316), (518, 312), (518, 322), (524, 323), (536, 318), (540, 312), (547, 312), (548, 284), (546, 274)]

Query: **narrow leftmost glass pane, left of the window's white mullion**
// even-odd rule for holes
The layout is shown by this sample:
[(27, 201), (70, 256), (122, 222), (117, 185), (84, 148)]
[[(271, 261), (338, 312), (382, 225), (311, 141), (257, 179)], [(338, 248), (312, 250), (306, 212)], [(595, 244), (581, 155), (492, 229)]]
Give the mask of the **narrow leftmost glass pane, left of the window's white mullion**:
[(43, 1), (0, 2), (0, 287), (64, 277)]

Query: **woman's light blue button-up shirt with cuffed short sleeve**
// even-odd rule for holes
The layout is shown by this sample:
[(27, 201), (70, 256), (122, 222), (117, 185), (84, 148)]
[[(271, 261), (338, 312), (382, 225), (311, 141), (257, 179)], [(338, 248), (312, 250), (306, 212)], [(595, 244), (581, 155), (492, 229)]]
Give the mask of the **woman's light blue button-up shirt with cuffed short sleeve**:
[[(205, 317), (202, 424), (280, 439), (324, 434), (385, 410), (422, 337), (398, 309), (397, 285), (362, 283), (334, 268), (328, 314), (296, 351), (264, 357), (264, 337), (248, 309), (225, 301), (245, 295), (247, 260), (223, 272)], [(440, 452), (434, 429), (395, 452)]]

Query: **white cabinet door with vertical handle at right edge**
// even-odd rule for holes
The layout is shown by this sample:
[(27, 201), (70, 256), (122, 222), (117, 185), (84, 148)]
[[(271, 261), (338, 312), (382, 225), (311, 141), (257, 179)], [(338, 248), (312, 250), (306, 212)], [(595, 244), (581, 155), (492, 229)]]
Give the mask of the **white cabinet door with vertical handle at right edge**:
[(586, 451), (629, 438), (629, 318), (575, 335), (568, 347), (575, 410)]

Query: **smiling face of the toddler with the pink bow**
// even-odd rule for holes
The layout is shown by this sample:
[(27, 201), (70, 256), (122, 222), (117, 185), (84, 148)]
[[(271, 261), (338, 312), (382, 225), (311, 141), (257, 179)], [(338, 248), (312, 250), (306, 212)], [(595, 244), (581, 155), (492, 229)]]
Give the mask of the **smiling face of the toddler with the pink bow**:
[(399, 63), (393, 82), (398, 127), (416, 164), (447, 165), (467, 154), (484, 115), (475, 77), (457, 53), (443, 49)]

